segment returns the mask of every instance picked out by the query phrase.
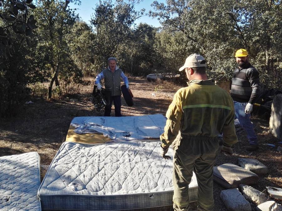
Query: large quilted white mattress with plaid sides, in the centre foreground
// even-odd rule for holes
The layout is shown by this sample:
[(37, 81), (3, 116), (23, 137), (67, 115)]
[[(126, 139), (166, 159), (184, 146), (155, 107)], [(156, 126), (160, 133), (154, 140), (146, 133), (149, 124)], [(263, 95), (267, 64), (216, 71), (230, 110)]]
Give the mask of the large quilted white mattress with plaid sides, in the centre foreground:
[[(43, 210), (121, 210), (172, 204), (172, 159), (159, 141), (64, 142), (39, 188)], [(168, 155), (173, 157), (170, 148)], [(197, 200), (193, 175), (190, 201)]]

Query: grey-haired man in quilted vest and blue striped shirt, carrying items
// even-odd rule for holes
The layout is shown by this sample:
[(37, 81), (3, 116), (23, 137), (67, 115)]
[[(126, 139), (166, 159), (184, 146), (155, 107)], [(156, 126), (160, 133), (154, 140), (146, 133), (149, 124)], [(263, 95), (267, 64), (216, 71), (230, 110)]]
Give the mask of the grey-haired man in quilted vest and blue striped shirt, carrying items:
[(104, 78), (105, 89), (108, 93), (111, 94), (109, 102), (107, 102), (107, 105), (105, 106), (104, 116), (106, 117), (111, 116), (112, 101), (113, 101), (115, 105), (115, 116), (121, 117), (122, 115), (120, 113), (121, 110), (120, 78), (123, 79), (126, 88), (129, 87), (128, 78), (124, 75), (123, 71), (120, 68), (118, 68), (117, 58), (115, 57), (108, 58), (108, 64), (109, 66), (106, 69), (102, 70), (102, 72), (96, 76), (95, 84), (97, 84), (97, 89), (101, 90), (102, 88), (101, 80)]

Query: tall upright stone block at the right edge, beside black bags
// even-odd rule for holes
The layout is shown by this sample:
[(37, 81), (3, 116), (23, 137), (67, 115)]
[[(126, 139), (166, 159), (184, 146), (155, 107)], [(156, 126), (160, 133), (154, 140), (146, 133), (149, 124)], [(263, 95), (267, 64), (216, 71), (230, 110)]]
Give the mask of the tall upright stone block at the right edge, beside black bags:
[(269, 119), (269, 133), (282, 140), (282, 94), (274, 96)]

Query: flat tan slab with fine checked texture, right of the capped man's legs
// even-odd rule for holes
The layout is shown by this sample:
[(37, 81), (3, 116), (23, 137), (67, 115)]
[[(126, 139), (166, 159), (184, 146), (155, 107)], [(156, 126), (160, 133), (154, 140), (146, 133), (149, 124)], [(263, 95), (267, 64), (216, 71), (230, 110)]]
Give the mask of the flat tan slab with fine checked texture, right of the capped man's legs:
[(238, 188), (239, 184), (255, 184), (258, 179), (255, 173), (232, 163), (213, 167), (213, 180), (225, 188)]

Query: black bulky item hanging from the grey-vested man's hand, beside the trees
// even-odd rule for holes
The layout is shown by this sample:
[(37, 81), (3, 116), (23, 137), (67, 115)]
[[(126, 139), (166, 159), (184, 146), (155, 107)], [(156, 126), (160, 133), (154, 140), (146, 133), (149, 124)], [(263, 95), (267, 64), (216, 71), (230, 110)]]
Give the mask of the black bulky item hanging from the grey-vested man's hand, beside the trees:
[(101, 111), (109, 102), (111, 98), (111, 92), (102, 88), (101, 90), (97, 89), (97, 85), (94, 85), (92, 92), (92, 103), (94, 109)]

